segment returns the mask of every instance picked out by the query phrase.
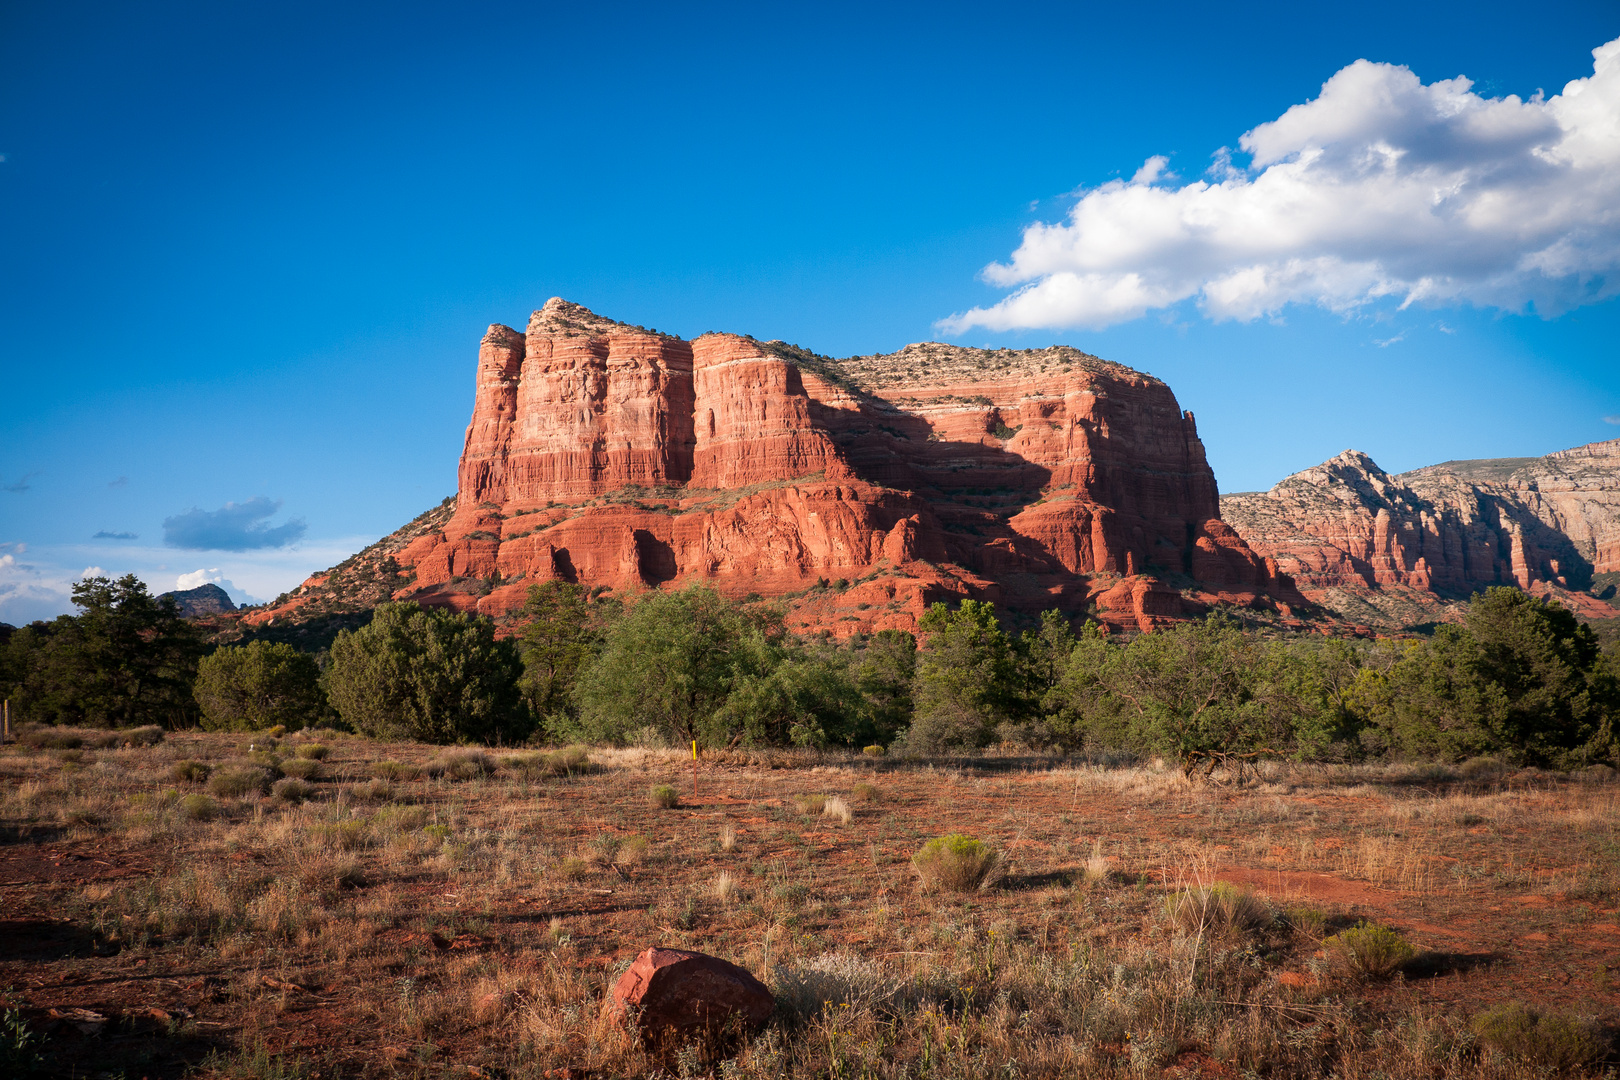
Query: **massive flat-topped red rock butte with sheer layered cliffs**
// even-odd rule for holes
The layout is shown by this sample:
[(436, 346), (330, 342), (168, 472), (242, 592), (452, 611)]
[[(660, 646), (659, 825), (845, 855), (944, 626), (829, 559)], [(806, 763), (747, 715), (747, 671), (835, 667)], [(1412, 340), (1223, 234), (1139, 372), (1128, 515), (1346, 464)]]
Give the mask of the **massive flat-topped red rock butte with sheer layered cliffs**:
[(395, 536), (395, 597), (497, 617), (552, 578), (782, 597), (838, 636), (964, 597), (1140, 630), (1302, 602), (1158, 379), (1066, 347), (685, 342), (564, 300), (484, 334), (454, 512)]

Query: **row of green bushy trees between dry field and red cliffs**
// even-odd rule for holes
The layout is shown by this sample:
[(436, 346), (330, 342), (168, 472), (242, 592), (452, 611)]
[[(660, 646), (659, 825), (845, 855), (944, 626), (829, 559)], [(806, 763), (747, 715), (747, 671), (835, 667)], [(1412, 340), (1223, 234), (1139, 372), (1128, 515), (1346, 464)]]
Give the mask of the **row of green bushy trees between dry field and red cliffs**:
[(267, 641), (209, 651), (134, 576), (89, 578), (73, 599), (78, 615), (0, 646), (0, 693), (23, 721), (914, 755), (1013, 743), (1183, 763), (1500, 755), (1578, 767), (1620, 750), (1620, 643), (1510, 588), (1476, 596), (1461, 625), (1377, 643), (1265, 636), (1221, 614), (1123, 638), (1045, 612), (1014, 633), (975, 601), (933, 604), (917, 636), (834, 641), (701, 586), (614, 599), (548, 581), (517, 636), (402, 602), (321, 656)]

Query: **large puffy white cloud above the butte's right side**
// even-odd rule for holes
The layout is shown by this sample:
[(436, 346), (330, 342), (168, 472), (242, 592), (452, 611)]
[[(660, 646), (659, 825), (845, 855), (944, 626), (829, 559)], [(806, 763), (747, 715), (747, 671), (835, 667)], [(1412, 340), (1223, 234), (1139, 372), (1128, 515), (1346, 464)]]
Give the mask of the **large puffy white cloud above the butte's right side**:
[(1239, 141), (1209, 180), (1168, 183), (1165, 157), (1037, 222), (1014, 288), (940, 322), (946, 334), (1105, 327), (1194, 300), (1210, 319), (1290, 303), (1349, 313), (1390, 298), (1554, 316), (1620, 293), (1620, 39), (1588, 78), (1529, 100), (1424, 84), (1358, 60)]

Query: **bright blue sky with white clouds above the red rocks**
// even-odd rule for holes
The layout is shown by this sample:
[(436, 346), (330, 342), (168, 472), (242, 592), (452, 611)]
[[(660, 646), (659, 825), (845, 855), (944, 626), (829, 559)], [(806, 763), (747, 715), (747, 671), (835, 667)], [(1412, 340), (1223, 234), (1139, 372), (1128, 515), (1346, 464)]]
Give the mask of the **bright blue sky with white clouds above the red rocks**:
[[(1074, 343), (1166, 379), (1223, 491), (1620, 436), (1614, 188), (1513, 180), (1620, 8), (1315, 6), (0, 5), (0, 620), (89, 567), (267, 599), (390, 531), (455, 487), (483, 329), (554, 295), (834, 355)], [(1419, 115), (1458, 102), (1466, 139)], [(1403, 196), (1328, 154), (1294, 180), (1356, 212), (1244, 248), (1288, 139), (1362, 121), (1518, 209), (1346, 238)], [(1238, 240), (1118, 240), (1183, 212)]]

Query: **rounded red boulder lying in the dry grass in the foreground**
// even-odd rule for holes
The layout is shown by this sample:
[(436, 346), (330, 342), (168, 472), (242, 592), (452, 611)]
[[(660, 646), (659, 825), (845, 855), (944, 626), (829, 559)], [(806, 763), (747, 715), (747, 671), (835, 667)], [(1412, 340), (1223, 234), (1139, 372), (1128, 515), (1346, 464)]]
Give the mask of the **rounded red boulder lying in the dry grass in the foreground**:
[(604, 1007), (667, 1051), (685, 1043), (719, 1049), (757, 1031), (776, 1009), (765, 983), (735, 963), (687, 949), (648, 949), (619, 976)]

